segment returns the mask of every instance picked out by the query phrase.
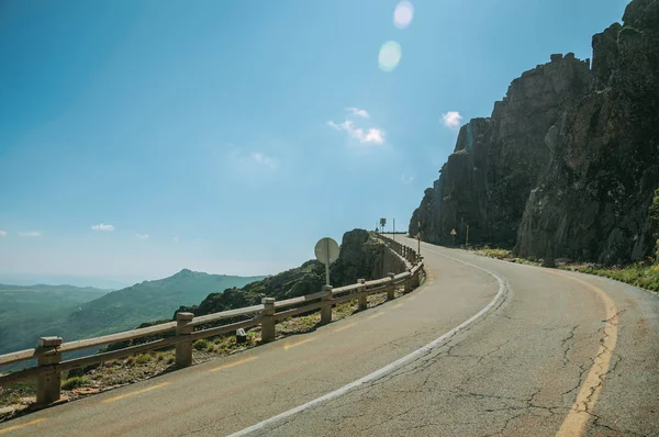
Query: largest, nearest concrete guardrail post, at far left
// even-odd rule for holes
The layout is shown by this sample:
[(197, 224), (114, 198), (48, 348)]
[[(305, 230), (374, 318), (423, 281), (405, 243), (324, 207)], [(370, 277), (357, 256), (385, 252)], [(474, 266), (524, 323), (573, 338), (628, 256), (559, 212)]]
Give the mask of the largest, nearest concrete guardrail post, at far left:
[(36, 404), (45, 406), (59, 401), (62, 393), (62, 373), (55, 365), (62, 361), (62, 352), (58, 347), (62, 346), (62, 337), (41, 337), (36, 347), (37, 351), (43, 354), (38, 360), (38, 367), (42, 372), (36, 378)]

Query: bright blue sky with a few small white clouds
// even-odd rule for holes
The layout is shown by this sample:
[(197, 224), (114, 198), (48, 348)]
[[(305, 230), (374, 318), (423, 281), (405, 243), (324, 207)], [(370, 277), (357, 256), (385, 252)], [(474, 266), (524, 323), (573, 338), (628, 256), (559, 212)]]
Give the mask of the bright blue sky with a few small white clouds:
[(459, 126), (626, 3), (3, 0), (0, 280), (267, 274), (406, 229)]

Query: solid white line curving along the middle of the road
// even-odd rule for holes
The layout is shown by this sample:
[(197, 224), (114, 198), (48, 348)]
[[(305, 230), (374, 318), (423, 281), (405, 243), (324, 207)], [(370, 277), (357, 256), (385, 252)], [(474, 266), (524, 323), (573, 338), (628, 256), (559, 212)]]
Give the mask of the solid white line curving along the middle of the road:
[[(429, 251), (432, 251), (432, 250), (429, 250)], [(421, 348), (418, 348), (418, 349), (416, 349), (416, 350), (407, 354), (406, 356), (404, 356), (402, 358), (399, 358), (398, 360), (393, 361), (392, 363), (387, 365), (383, 368), (378, 369), (375, 372), (372, 372), (370, 374), (367, 374), (364, 378), (358, 379), (357, 381), (350, 382), (349, 384), (346, 384), (346, 385), (342, 386), (340, 389), (336, 389), (335, 391), (330, 392), (327, 394), (324, 394), (321, 397), (316, 397), (316, 399), (314, 399), (312, 401), (309, 401), (305, 404), (302, 404), (302, 405), (297, 406), (294, 408), (291, 408), (291, 410), (289, 410), (287, 412), (283, 412), (281, 414), (278, 414), (276, 416), (267, 418), (267, 419), (265, 419), (263, 422), (259, 422), (258, 424), (252, 425), (250, 427), (242, 429), (242, 430), (239, 430), (237, 433), (231, 434), (227, 437), (245, 436), (245, 435), (247, 435), (249, 433), (254, 433), (255, 430), (263, 429), (267, 425), (271, 425), (273, 423), (277, 423), (277, 422), (279, 422), (279, 421), (283, 419), (283, 418), (287, 418), (289, 416), (292, 416), (294, 414), (302, 413), (303, 411), (309, 410), (309, 408), (311, 408), (314, 405), (317, 405), (317, 404), (323, 403), (325, 401), (330, 401), (332, 399), (335, 399), (335, 397), (338, 397), (338, 396), (340, 396), (343, 394), (346, 394), (347, 392), (349, 392), (353, 389), (358, 388), (359, 385), (366, 384), (366, 383), (371, 382), (373, 380), (377, 380), (377, 379), (379, 379), (381, 377), (384, 377), (386, 374), (391, 373), (391, 372), (398, 370), (399, 368), (401, 368), (401, 367), (403, 367), (403, 366), (405, 366), (405, 365), (407, 365), (407, 363), (410, 363), (410, 362), (412, 362), (412, 361), (414, 361), (414, 360), (416, 360), (416, 359), (418, 359), (418, 358), (421, 358), (421, 357), (423, 357), (425, 355), (428, 355), (429, 352), (433, 351), (433, 349), (436, 349), (437, 347), (443, 346), (443, 344), (447, 339), (449, 339), (450, 337), (455, 336), (458, 332), (460, 332), (461, 329), (463, 329), (465, 327), (467, 327), (468, 325), (470, 325), (471, 323), (473, 323), (476, 320), (478, 320), (481, 316), (483, 316), (492, 306), (494, 306), (500, 300), (502, 300), (504, 298), (505, 290), (506, 290), (505, 281), (499, 274), (493, 273), (492, 271), (490, 271), (488, 269), (484, 269), (482, 267), (472, 265), (471, 262), (467, 262), (467, 261), (463, 261), (461, 259), (450, 257), (448, 255), (439, 254), (438, 251), (432, 251), (432, 253), (436, 254), (436, 255), (439, 255), (439, 256), (443, 256), (445, 258), (450, 258), (450, 259), (453, 259), (455, 261), (465, 264), (467, 266), (474, 267), (474, 268), (477, 268), (479, 270), (482, 270), (482, 271), (484, 271), (484, 272), (493, 276), (499, 281), (499, 292), (496, 293), (496, 295), (494, 296), (494, 299), (492, 299), (492, 301), (488, 305), (485, 305), (481, 311), (479, 311), (478, 313), (476, 313), (474, 315), (472, 315), (469, 320), (462, 322), (460, 325), (456, 326), (455, 328), (453, 328), (448, 333), (446, 333), (443, 336), (440, 336), (440, 337), (434, 339), (433, 341), (428, 343), (427, 345), (422, 346)]]

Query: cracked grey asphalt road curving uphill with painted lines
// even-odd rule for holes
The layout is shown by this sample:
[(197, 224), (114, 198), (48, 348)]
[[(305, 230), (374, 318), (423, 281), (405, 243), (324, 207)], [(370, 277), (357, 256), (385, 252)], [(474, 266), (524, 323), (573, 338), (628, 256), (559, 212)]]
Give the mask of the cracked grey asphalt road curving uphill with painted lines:
[(220, 436), (256, 425), (249, 435), (659, 436), (656, 295), (427, 244), (422, 255), (428, 278), (412, 294), (10, 421), (0, 435)]

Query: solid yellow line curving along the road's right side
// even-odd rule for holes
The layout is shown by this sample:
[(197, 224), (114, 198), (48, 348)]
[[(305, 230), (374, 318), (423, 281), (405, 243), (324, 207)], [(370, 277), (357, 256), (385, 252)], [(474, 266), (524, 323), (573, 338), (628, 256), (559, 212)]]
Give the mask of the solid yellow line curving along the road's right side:
[(601, 288), (569, 274), (558, 272), (554, 273), (565, 278), (570, 278), (594, 291), (604, 303), (604, 309), (606, 310), (604, 338), (600, 344), (600, 349), (597, 350), (597, 355), (593, 360), (593, 366), (588, 372), (585, 380), (583, 380), (583, 383), (581, 384), (581, 389), (579, 390), (579, 394), (577, 394), (577, 400), (570, 408), (570, 413), (568, 413), (568, 416), (556, 434), (556, 437), (578, 437), (585, 432), (588, 423), (592, 417), (591, 413), (589, 412), (592, 412), (595, 407), (595, 402), (597, 402), (597, 396), (602, 391), (604, 376), (608, 371), (608, 366), (611, 365), (611, 359), (613, 358), (613, 350), (615, 349), (615, 344), (617, 340), (618, 310), (615, 306), (615, 302)]

